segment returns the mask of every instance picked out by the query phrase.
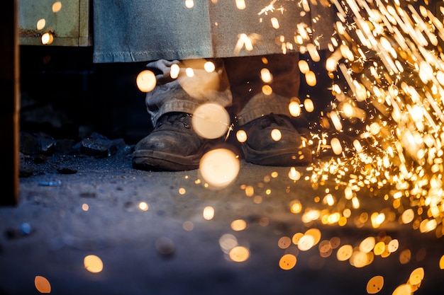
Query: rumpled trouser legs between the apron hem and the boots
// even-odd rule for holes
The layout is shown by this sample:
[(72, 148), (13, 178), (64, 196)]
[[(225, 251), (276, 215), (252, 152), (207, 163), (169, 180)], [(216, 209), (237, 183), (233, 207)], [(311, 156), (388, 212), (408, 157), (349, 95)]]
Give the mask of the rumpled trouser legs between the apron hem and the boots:
[[(215, 70), (206, 71), (206, 62), (213, 62)], [(298, 62), (297, 52), (150, 62), (157, 79), (146, 96), (152, 124), (167, 112), (192, 114), (204, 103), (228, 108), (238, 125), (270, 113), (290, 116), (289, 103), (299, 94)], [(173, 64), (181, 69), (177, 78), (170, 76)], [(187, 69), (193, 76), (187, 76)]]

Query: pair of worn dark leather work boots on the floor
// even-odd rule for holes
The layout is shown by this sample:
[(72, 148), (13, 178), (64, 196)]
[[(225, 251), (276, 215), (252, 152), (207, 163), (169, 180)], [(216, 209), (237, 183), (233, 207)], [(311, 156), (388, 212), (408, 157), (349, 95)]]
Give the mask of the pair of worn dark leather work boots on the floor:
[[(311, 151), (289, 117), (265, 115), (240, 127), (247, 139), (240, 144), (248, 163), (263, 166), (303, 166)], [(278, 130), (278, 131), (277, 131)], [(272, 137), (271, 133), (278, 137)], [(216, 139), (200, 137), (192, 127), (192, 115), (170, 112), (162, 115), (153, 131), (140, 140), (133, 152), (133, 168), (140, 170), (193, 170)]]

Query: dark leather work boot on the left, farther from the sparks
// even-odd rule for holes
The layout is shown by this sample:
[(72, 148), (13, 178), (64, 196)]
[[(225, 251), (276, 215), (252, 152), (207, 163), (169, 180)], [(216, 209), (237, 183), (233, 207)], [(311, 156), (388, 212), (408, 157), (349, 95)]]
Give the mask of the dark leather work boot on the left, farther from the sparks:
[(168, 171), (199, 168), (207, 141), (194, 132), (192, 115), (169, 112), (135, 145), (133, 168)]

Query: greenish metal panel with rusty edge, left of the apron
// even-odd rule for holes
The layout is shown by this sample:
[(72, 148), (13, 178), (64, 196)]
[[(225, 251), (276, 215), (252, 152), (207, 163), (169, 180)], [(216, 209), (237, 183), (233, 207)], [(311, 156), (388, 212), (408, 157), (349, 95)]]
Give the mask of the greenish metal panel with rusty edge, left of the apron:
[[(20, 45), (91, 45), (89, 0), (21, 0), (18, 18)], [(43, 40), (45, 33), (49, 42)]]

